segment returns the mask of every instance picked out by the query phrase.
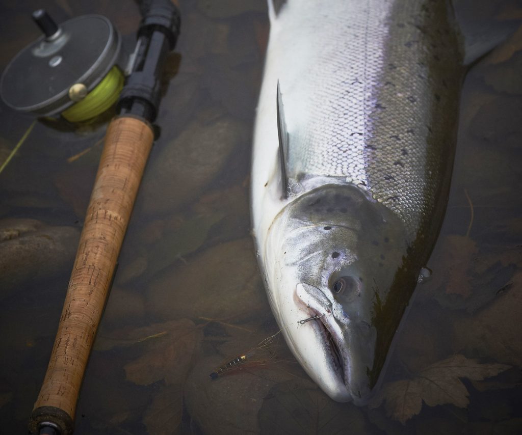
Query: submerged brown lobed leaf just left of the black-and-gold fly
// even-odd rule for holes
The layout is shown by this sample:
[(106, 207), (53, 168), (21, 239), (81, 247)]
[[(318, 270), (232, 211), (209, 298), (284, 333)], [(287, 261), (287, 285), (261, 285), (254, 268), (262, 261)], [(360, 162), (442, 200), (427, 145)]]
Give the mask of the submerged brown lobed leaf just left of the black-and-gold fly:
[(201, 329), (188, 319), (157, 323), (138, 328), (138, 337), (167, 333), (145, 342), (142, 356), (125, 365), (127, 380), (138, 385), (149, 385), (164, 379), (168, 384), (181, 383), (190, 368), (202, 338)]

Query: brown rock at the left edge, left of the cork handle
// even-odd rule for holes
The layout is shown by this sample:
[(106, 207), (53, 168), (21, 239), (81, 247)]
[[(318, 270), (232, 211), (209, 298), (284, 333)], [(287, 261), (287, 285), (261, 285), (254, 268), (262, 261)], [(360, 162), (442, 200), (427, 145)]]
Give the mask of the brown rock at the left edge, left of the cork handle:
[(69, 270), (79, 234), (32, 219), (0, 220), (0, 297)]

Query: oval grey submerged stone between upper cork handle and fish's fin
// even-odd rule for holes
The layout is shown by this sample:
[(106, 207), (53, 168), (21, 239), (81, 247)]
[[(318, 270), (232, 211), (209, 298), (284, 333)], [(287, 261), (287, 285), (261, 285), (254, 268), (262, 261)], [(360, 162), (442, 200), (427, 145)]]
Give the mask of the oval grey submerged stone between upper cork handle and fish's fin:
[(249, 139), (248, 128), (210, 111), (151, 156), (140, 189), (147, 214), (165, 214), (194, 199), (222, 170), (231, 152)]

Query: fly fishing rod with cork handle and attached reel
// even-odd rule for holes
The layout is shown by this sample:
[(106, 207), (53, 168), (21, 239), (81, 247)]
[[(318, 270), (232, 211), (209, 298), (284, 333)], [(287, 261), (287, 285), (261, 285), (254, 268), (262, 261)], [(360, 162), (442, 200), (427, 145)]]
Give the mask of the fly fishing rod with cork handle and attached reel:
[[(180, 13), (170, 0), (151, 2), (126, 71), (118, 65), (122, 62), (121, 39), (106, 18), (84, 16), (57, 26), (39, 10), (33, 19), (44, 35), (4, 71), (0, 88), (9, 106), (37, 115), (61, 114), (69, 122), (77, 122), (118, 101), (118, 115), (106, 131), (49, 366), (29, 421), (32, 433), (69, 435), (74, 430), (87, 360), (155, 138), (152, 123), (160, 103), (160, 76), (179, 35)], [(128, 77), (123, 84), (125, 72)], [(33, 94), (20, 95), (17, 92), (27, 88), (26, 75), (40, 77), (40, 81), (50, 77), (54, 87), (35, 86)], [(65, 83), (63, 89), (61, 82)]]

